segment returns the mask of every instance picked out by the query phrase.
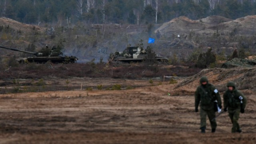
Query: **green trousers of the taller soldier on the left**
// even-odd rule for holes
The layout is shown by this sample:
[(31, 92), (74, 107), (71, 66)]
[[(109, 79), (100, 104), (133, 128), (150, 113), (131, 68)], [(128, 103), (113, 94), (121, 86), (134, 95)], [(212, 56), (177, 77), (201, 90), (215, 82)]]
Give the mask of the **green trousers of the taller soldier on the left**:
[(216, 117), (214, 109), (204, 110), (203, 108), (200, 108), (200, 117), (201, 117), (201, 126), (200, 126), (200, 128), (203, 128), (203, 127), (206, 128), (207, 116), (208, 116), (209, 121), (210, 121), (210, 127), (212, 127), (212, 129), (216, 129), (216, 127), (217, 127), (216, 120), (212, 121), (212, 119), (214, 117)]

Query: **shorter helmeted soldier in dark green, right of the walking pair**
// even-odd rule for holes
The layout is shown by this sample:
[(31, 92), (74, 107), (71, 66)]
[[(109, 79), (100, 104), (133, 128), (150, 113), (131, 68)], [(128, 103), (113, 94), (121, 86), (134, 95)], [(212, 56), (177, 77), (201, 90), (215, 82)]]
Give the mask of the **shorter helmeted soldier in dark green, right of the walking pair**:
[(238, 119), (240, 112), (245, 112), (247, 100), (242, 92), (236, 89), (236, 84), (234, 82), (228, 82), (227, 87), (228, 90), (223, 95), (224, 112), (229, 112), (229, 117), (233, 124), (232, 133), (241, 133), (242, 130), (238, 124)]

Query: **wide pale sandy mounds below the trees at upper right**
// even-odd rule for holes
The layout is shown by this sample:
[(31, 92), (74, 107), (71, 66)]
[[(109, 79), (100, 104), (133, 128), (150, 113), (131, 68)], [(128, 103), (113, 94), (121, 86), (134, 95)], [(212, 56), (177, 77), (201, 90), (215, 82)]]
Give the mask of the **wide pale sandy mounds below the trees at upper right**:
[(201, 35), (212, 36), (218, 29), (221, 35), (230, 35), (230, 33), (235, 35), (254, 35), (255, 23), (256, 15), (245, 16), (236, 20), (221, 16), (209, 16), (200, 20), (191, 20), (181, 16), (164, 23), (155, 32), (159, 31), (161, 35), (171, 35), (173, 33), (188, 35), (191, 31), (194, 31)]

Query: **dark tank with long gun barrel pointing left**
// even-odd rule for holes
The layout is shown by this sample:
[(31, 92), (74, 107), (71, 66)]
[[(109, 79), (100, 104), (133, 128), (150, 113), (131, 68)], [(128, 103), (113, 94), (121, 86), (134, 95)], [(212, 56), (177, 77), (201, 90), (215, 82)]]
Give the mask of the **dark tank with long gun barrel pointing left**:
[(19, 63), (26, 62), (36, 62), (36, 63), (46, 63), (47, 61), (51, 61), (52, 63), (75, 63), (78, 58), (74, 56), (63, 56), (63, 53), (60, 50), (57, 50), (55, 47), (49, 49), (48, 46), (43, 48), (39, 52), (28, 52), (26, 50), (19, 50), (13, 48), (6, 48), (4, 46), (0, 46), (3, 49), (9, 49), (16, 52), (33, 54), (35, 57), (27, 57), (27, 58), (19, 58)]

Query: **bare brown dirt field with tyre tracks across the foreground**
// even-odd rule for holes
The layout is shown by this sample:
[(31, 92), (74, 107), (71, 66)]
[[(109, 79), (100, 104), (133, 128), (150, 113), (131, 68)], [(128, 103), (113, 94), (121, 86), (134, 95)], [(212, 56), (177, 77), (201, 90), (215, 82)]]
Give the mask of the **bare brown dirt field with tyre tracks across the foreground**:
[(242, 134), (230, 133), (227, 113), (217, 119), (216, 133), (210, 133), (207, 121), (207, 133), (201, 134), (193, 96), (168, 96), (174, 87), (0, 95), (0, 143), (256, 142), (254, 95), (247, 96), (240, 118)]

